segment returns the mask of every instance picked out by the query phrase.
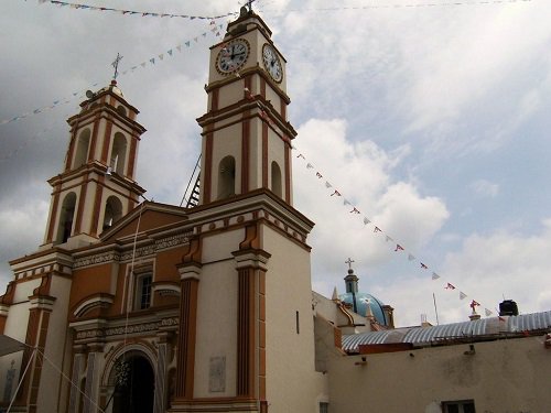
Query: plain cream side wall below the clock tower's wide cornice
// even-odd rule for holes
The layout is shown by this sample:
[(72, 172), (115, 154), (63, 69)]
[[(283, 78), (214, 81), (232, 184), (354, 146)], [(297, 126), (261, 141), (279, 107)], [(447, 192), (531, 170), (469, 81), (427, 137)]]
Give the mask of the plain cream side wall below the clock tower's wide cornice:
[(271, 228), (264, 227), (263, 237), (264, 250), (272, 254), (266, 274), (270, 413), (317, 412), (327, 388), (326, 377), (314, 368), (310, 252)]

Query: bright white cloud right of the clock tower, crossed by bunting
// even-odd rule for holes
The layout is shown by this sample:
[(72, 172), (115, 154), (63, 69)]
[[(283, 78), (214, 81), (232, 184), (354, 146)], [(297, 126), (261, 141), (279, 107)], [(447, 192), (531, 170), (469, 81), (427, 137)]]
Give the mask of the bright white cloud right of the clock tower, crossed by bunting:
[[(386, 152), (368, 140), (353, 143), (346, 131), (344, 120), (312, 119), (299, 128), (294, 152), (295, 207), (316, 224), (311, 237), (314, 287), (327, 295), (333, 285), (341, 286), (335, 275), (341, 278), (347, 257), (363, 268), (393, 259), (395, 244), (389, 248), (380, 232), (374, 233), (372, 224), (364, 224), (365, 217), (413, 250), (449, 217), (441, 199), (424, 197), (411, 183), (391, 178), (407, 149)], [(335, 189), (341, 197), (332, 196)], [(360, 214), (350, 213), (354, 207)]]

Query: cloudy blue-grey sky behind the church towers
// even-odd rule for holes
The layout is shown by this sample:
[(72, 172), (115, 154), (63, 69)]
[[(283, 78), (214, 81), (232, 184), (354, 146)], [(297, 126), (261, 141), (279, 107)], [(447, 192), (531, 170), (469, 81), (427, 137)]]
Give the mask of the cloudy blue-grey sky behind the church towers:
[[(79, 3), (140, 13), (1, 4), (0, 291), (8, 261), (43, 242), (66, 119), (108, 85), (117, 53), (118, 85), (148, 130), (137, 181), (150, 199), (180, 204), (201, 149), (214, 29), (224, 34), (240, 8)], [(550, 311), (551, 2), (257, 0), (253, 10), (288, 62), (313, 289), (344, 293), (352, 258), (359, 290), (390, 304), (399, 326), (466, 320), (473, 300), (483, 317), (504, 298), (522, 314)]]

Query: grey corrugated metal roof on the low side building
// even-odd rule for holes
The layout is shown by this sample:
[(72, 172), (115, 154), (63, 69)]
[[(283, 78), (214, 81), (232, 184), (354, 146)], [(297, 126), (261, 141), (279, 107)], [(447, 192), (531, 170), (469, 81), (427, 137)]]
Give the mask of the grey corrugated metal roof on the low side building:
[(356, 352), (360, 345), (411, 343), (426, 345), (444, 339), (483, 336), (497, 333), (518, 333), (551, 329), (551, 311), (518, 316), (480, 318), (473, 322), (430, 327), (408, 327), (343, 336), (343, 350)]

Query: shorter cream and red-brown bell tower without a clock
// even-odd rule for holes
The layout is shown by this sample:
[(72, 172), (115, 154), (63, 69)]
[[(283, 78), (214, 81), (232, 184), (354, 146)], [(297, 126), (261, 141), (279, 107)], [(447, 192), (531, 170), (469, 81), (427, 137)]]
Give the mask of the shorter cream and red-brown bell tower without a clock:
[(80, 112), (71, 117), (71, 140), (63, 172), (53, 187), (41, 249), (73, 249), (95, 242), (144, 193), (134, 181), (140, 135), (138, 109), (129, 105), (117, 81), (88, 90)]

